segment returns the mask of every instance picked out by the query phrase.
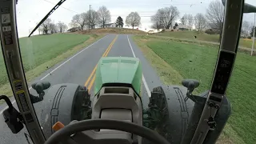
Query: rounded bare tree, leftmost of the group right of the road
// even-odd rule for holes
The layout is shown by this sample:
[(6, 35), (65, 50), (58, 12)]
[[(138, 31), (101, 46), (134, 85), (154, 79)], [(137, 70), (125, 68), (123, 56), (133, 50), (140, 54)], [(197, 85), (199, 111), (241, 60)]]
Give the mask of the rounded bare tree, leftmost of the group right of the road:
[(176, 6), (165, 7), (158, 9), (157, 14), (162, 26), (165, 29), (170, 29), (176, 18), (178, 18), (179, 11)]

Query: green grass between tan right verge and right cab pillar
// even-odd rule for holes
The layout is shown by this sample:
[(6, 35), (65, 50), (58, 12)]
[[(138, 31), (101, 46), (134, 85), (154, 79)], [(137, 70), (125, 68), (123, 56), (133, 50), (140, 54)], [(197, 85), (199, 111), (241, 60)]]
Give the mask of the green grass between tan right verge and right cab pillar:
[[(170, 41), (153, 41), (147, 42), (146, 45), (174, 67), (174, 70), (177, 70), (182, 78), (198, 79), (202, 83), (198, 87), (200, 92), (209, 89), (218, 49)], [(207, 60), (204, 54), (207, 54)], [(181, 81), (172, 83), (177, 84)]]

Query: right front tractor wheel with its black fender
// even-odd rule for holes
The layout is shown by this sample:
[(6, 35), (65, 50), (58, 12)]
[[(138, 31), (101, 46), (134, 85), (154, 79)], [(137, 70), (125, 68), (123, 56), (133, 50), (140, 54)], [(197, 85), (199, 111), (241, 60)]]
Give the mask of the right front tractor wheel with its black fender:
[[(150, 129), (157, 130), (170, 143), (178, 144), (193, 110), (194, 102), (186, 99), (184, 86), (158, 86), (153, 89), (149, 109), (146, 110)], [(143, 144), (150, 142), (143, 142)]]

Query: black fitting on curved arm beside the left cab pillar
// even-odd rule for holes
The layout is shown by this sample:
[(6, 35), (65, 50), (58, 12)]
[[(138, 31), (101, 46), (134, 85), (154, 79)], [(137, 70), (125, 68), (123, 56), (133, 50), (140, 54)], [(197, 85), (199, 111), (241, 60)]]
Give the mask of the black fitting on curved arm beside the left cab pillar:
[(0, 100), (2, 99), (4, 99), (8, 105), (8, 108), (2, 113), (3, 118), (5, 119), (5, 122), (12, 133), (17, 134), (24, 127), (22, 124), (22, 114), (20, 114), (18, 110), (14, 108), (10, 102), (10, 99), (6, 97), (6, 95), (1, 95)]

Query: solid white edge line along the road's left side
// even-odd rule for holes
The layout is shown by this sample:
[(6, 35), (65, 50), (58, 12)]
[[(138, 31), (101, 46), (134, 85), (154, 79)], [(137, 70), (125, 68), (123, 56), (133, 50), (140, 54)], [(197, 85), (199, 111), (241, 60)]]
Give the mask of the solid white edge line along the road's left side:
[[(103, 38), (105, 38), (107, 36), (104, 36), (100, 39), (98, 39), (98, 41), (92, 43), (90, 46), (93, 46), (94, 44), (96, 44), (97, 42), (99, 42), (100, 40), (102, 40)], [(54, 70), (51, 70), (50, 73), (46, 74), (46, 76), (44, 76), (43, 78), (41, 78), (40, 80), (42, 81), (44, 78), (48, 77), (50, 74), (52, 74), (55, 70), (58, 70), (58, 68), (60, 68), (61, 66), (63, 66), (66, 62), (69, 62), (72, 58), (74, 58), (75, 56), (77, 56), (78, 54), (82, 53), (84, 50), (87, 50), (90, 46), (87, 46), (85, 49), (79, 51), (77, 54), (74, 54), (71, 58), (67, 59), (65, 62), (63, 62), (61, 65), (57, 66)], [(29, 90), (31, 90), (32, 87), (30, 86)], [(16, 101), (12, 101), (11, 103), (14, 104)], [(4, 107), (3, 110), (0, 111), (0, 114), (3, 113), (4, 110), (6, 110), (8, 108), (8, 106)]]

